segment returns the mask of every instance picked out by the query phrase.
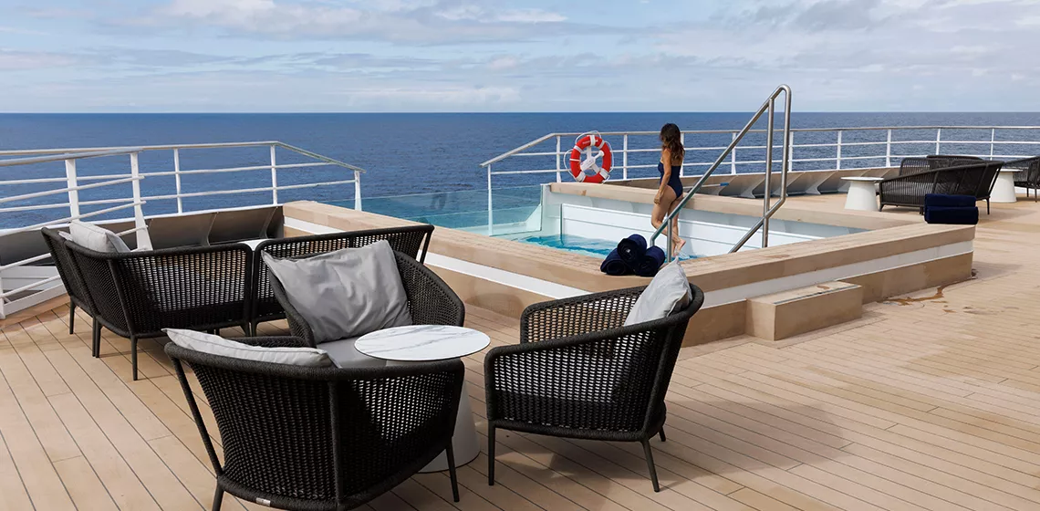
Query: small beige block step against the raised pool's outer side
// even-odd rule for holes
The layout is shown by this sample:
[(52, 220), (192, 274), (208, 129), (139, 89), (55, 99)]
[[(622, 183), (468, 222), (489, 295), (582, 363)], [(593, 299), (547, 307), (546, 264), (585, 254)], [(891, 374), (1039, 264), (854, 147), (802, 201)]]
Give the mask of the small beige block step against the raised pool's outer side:
[(825, 282), (748, 299), (747, 333), (766, 340), (781, 340), (862, 315), (862, 287), (847, 282)]

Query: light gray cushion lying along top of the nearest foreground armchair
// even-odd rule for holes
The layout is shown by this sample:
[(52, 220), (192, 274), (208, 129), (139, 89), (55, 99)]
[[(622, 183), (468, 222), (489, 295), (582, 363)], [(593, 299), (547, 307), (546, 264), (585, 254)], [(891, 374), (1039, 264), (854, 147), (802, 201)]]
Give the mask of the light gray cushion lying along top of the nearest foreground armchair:
[(252, 360), (255, 362), (270, 362), (304, 367), (331, 367), (332, 358), (323, 350), (314, 348), (262, 348), (243, 344), (193, 330), (165, 329), (175, 344), (210, 355)]

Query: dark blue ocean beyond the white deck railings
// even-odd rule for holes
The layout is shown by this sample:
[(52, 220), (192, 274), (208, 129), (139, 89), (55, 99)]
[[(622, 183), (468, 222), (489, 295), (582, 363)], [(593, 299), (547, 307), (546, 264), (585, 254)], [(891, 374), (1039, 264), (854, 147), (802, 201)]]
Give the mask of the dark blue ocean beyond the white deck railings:
[[(517, 146), (530, 142), (549, 132), (598, 131), (656, 131), (665, 123), (676, 123), (684, 130), (738, 129), (749, 119), (748, 113), (198, 113), (198, 114), (0, 114), (0, 149), (37, 148), (80, 148), (101, 146), (144, 146), (196, 143), (281, 140), (318, 154), (356, 164), (368, 172), (362, 178), (362, 197), (365, 209), (379, 210), (390, 214), (416, 218), (416, 211), (397, 211), (404, 207), (401, 196), (423, 194), (462, 193), (456, 209), (449, 206), (447, 213), (464, 212), (467, 209), (486, 208), (486, 171), (479, 168), (482, 161), (493, 158)], [(778, 120), (779, 121), (779, 120)], [(763, 124), (763, 123), (761, 123)], [(1040, 125), (1040, 113), (811, 113), (795, 112), (792, 126), (796, 128), (830, 128), (862, 126), (920, 126), (920, 125)], [(912, 135), (912, 133), (908, 134)], [(809, 138), (815, 135), (806, 135)], [(821, 135), (823, 136), (823, 135)], [(800, 138), (796, 143), (833, 143), (833, 133), (818, 140)], [(859, 138), (856, 138), (858, 136)], [(844, 143), (876, 140), (883, 132), (850, 134)], [(924, 136), (918, 134), (916, 136)], [(934, 137), (934, 131), (929, 135)], [(973, 134), (980, 139), (983, 134)], [(988, 132), (985, 134), (988, 139)], [(1010, 133), (1009, 136), (1019, 136)], [(874, 138), (870, 138), (874, 137)], [(746, 144), (761, 144), (764, 139), (750, 136)], [(569, 146), (573, 140), (565, 140)], [(725, 146), (729, 135), (704, 135), (702, 139), (688, 139), (687, 146)], [(620, 149), (617, 140), (615, 150)], [(652, 137), (633, 145), (642, 148), (654, 146)], [(934, 145), (933, 145), (934, 146)], [(554, 143), (543, 146), (554, 149)], [(912, 149), (912, 148), (906, 148)], [(934, 147), (932, 148), (934, 149)], [(943, 147), (943, 152), (955, 152), (956, 147)], [(988, 150), (988, 148), (987, 148)], [(753, 154), (746, 150), (742, 159)], [(829, 152), (828, 152), (829, 151)], [(818, 150), (820, 156), (833, 156), (833, 148)], [(846, 148), (846, 156), (855, 155), (857, 148)], [(931, 152), (920, 148), (921, 153)], [(691, 153), (687, 161), (710, 161), (719, 151)], [(812, 156), (815, 153), (809, 154)], [(805, 157), (805, 153), (797, 157)], [(656, 154), (632, 155), (630, 163), (655, 162)], [(80, 175), (102, 175), (126, 173), (129, 165), (115, 158), (83, 160)], [(537, 158), (534, 158), (537, 159)], [(760, 159), (760, 157), (759, 157)], [(644, 161), (645, 160), (645, 161)], [(235, 150), (184, 151), (181, 154), (182, 170), (212, 169), (243, 165), (262, 165), (269, 161), (266, 148)], [(290, 156), (280, 162), (293, 162)], [(302, 160), (300, 160), (302, 161)], [(868, 164), (864, 161), (863, 164)], [(539, 162), (519, 158), (503, 162), (495, 170), (518, 170), (522, 167), (554, 168), (554, 158), (542, 158)], [(854, 165), (855, 162), (847, 163)], [(877, 164), (877, 162), (875, 162)], [(802, 165), (797, 169), (809, 169)], [(171, 152), (147, 153), (141, 155), (142, 172), (173, 170)], [(754, 169), (743, 168), (740, 172)], [(280, 184), (303, 182), (308, 178), (304, 172), (316, 173), (326, 180), (345, 179), (336, 169), (280, 171)], [(687, 171), (691, 173), (692, 171)], [(630, 177), (652, 176), (656, 171), (633, 171)], [(36, 177), (62, 177), (64, 168), (60, 162), (46, 165), (0, 168), (0, 181)], [(294, 176), (295, 175), (295, 176)], [(284, 177), (283, 177), (284, 176)], [(312, 179), (312, 178), (311, 178)], [(496, 176), (495, 188), (524, 187), (554, 180), (555, 176), (520, 175)], [(239, 186), (269, 185), (269, 172), (257, 171), (235, 174), (185, 176), (184, 191), (219, 189), (235, 180)], [(265, 183), (265, 181), (267, 181)], [(146, 195), (173, 191), (173, 178), (146, 179), (149, 190)], [(112, 187), (114, 188), (114, 187)], [(41, 185), (0, 186), (0, 197), (24, 194), (42, 189)], [(466, 193), (470, 190), (470, 193)], [(86, 190), (81, 200), (101, 199), (115, 194), (113, 189)], [(282, 201), (313, 199), (323, 202), (353, 202), (353, 186), (298, 189), (280, 195)], [(523, 194), (526, 198), (528, 194)], [(185, 209), (204, 209), (244, 205), (250, 202), (269, 201), (269, 194), (255, 194), (249, 197), (219, 196), (185, 200)], [(508, 195), (506, 195), (508, 197)], [(379, 198), (386, 198), (382, 200)], [(61, 202), (63, 196), (50, 196), (31, 201), (6, 203), (0, 207), (47, 204)], [(524, 199), (527, 200), (527, 199)], [(477, 204), (484, 201), (484, 205)], [(416, 202), (440, 204), (438, 201), (422, 199)], [(443, 204), (441, 204), (443, 206)], [(496, 204), (496, 209), (499, 207)], [(173, 201), (156, 201), (146, 206), (146, 213), (171, 212)], [(66, 210), (67, 212), (68, 210)], [(55, 214), (57, 214), (55, 212)], [(0, 213), (0, 227), (27, 225), (42, 219), (40, 212)]]

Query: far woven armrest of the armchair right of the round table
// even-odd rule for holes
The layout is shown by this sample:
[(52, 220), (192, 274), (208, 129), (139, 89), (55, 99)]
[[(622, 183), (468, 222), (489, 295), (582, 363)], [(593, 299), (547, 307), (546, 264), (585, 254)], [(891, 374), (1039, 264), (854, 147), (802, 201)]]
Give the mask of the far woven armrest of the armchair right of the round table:
[(619, 328), (646, 287), (631, 287), (528, 306), (520, 342), (539, 342)]

